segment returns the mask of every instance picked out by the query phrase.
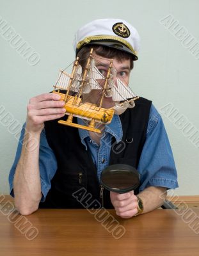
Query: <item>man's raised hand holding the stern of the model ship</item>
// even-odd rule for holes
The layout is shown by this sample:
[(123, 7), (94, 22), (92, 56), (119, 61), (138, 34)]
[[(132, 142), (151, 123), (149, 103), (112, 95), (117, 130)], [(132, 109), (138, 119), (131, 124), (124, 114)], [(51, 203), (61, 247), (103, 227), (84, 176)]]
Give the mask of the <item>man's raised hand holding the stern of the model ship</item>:
[(65, 115), (65, 102), (56, 93), (44, 93), (29, 100), (27, 106), (26, 129), (29, 132), (41, 132), (44, 122)]

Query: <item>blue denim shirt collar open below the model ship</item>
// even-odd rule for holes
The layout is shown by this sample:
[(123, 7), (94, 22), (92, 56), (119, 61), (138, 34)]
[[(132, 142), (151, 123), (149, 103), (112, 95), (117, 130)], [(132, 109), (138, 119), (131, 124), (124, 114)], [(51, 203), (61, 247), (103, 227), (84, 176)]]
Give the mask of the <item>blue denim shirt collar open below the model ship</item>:
[[(77, 118), (77, 124), (84, 125), (84, 121), (81, 118)], [(78, 129), (79, 130), (79, 137), (81, 139), (81, 143), (86, 147), (87, 145), (85, 142), (85, 138), (90, 138), (88, 130)], [(104, 132), (108, 132), (112, 136), (115, 137), (116, 143), (122, 140), (123, 131), (122, 131), (122, 124), (120, 121), (120, 117), (118, 115), (113, 115), (113, 119), (110, 124), (105, 125)]]

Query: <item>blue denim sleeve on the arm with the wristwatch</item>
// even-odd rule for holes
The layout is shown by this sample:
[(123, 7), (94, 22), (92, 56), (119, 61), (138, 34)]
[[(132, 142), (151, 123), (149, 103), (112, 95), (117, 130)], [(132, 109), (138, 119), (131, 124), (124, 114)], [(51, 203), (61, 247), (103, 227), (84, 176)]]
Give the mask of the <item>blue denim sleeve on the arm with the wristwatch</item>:
[(148, 120), (147, 138), (139, 159), (138, 171), (141, 186), (139, 191), (149, 186), (167, 189), (177, 188), (177, 170), (170, 142), (163, 120), (152, 105)]

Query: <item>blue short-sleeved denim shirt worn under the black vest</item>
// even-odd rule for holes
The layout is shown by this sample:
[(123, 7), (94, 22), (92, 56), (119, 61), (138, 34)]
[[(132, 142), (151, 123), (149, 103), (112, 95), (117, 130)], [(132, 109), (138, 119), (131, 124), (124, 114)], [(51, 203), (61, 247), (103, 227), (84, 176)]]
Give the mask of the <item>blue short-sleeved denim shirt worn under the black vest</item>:
[[(83, 124), (83, 120), (80, 118), (78, 118), (77, 121), (79, 124)], [(20, 141), (22, 141), (24, 137), (24, 127), (20, 134)], [(118, 115), (114, 115), (111, 124), (105, 126), (100, 145), (97, 145), (95, 141), (92, 141), (87, 130), (79, 129), (81, 142), (86, 150), (90, 150), (90, 154), (92, 154), (92, 159), (97, 168), (99, 179), (100, 173), (109, 163), (111, 138), (114, 136), (118, 143), (122, 140), (122, 134), (122, 124)], [(12, 196), (13, 177), (21, 150), (22, 143), (20, 142), (9, 175), (10, 195)], [(42, 186), (41, 202), (44, 202), (45, 196), (47, 196), (47, 193), (51, 188), (51, 179), (57, 170), (56, 157), (47, 143), (44, 130), (40, 136), (39, 166)], [(175, 189), (178, 187), (177, 171), (168, 136), (164, 128), (163, 120), (153, 105), (150, 109), (147, 138), (139, 159), (138, 172), (141, 179), (141, 187), (139, 188), (139, 191), (142, 191), (148, 186), (161, 186), (168, 189)]]

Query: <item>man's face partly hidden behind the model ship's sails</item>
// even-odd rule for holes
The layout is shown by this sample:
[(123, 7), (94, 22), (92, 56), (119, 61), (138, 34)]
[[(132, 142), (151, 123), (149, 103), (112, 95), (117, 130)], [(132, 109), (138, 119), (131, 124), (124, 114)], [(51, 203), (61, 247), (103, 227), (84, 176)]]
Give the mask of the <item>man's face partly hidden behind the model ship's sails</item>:
[[(100, 71), (100, 73), (106, 77), (107, 76), (107, 71), (110, 65), (111, 59), (104, 59), (103, 57), (99, 56), (95, 52), (93, 52), (93, 58), (95, 58), (95, 65)], [(118, 61), (116, 58), (113, 58), (113, 67), (116, 68), (116, 76), (113, 76), (113, 81), (115, 83), (115, 86), (117, 86), (117, 81), (116, 77), (120, 79), (123, 84), (126, 86), (129, 84), (129, 76), (131, 72), (131, 61), (130, 60), (121, 60)], [(100, 84), (102, 88), (104, 88), (104, 79), (97, 79), (97, 82)], [(88, 94), (83, 95), (83, 101), (84, 102), (90, 102), (93, 104), (97, 104), (99, 106), (100, 99), (102, 97), (102, 90), (92, 90)], [(112, 97), (106, 97), (104, 95), (103, 103), (102, 103), (102, 108), (112, 108), (115, 106), (116, 102), (113, 102)]]

